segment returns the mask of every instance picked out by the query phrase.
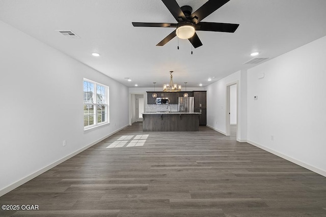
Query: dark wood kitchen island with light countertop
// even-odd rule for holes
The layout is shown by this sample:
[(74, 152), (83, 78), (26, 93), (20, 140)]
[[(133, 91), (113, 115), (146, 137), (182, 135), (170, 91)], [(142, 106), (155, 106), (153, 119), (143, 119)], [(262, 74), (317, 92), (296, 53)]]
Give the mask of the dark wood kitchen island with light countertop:
[(145, 112), (143, 131), (199, 131), (200, 112)]

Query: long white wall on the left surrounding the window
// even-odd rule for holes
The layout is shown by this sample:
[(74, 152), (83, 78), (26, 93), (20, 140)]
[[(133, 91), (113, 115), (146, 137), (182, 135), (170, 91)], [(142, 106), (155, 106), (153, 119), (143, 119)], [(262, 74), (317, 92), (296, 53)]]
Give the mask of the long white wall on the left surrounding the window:
[[(0, 32), (1, 196), (127, 126), (129, 89), (2, 21)], [(110, 88), (110, 124), (85, 132), (84, 77)]]

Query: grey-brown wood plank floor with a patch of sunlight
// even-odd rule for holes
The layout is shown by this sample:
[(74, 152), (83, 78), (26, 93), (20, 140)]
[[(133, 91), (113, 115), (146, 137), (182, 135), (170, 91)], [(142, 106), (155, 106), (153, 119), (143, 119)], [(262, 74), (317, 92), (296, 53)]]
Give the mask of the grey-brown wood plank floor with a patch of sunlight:
[(234, 131), (143, 133), (135, 123), (3, 204), (39, 210), (1, 216), (326, 216), (326, 177), (236, 142)]

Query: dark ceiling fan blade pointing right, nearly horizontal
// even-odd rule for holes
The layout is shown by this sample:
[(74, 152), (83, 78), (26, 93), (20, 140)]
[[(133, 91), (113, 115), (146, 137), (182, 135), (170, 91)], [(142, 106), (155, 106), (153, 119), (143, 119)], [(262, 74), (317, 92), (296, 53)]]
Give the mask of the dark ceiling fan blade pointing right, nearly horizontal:
[(234, 33), (239, 24), (234, 23), (220, 23), (220, 22), (199, 22), (195, 25), (197, 31), (212, 31)]

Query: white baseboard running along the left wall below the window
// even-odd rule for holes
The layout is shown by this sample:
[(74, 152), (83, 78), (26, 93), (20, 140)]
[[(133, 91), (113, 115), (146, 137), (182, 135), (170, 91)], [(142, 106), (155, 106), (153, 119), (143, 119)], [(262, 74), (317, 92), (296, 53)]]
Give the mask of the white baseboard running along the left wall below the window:
[(67, 161), (68, 159), (74, 157), (76, 154), (78, 154), (78, 153), (80, 153), (80, 152), (82, 152), (82, 151), (84, 151), (84, 150), (86, 150), (86, 149), (92, 147), (93, 145), (99, 143), (100, 141), (106, 139), (107, 137), (110, 137), (110, 136), (112, 136), (113, 134), (115, 134), (115, 133), (117, 133), (117, 132), (119, 132), (119, 131), (125, 129), (125, 128), (128, 127), (128, 126), (129, 126), (129, 124), (126, 125), (126, 126), (124, 126), (124, 127), (122, 127), (122, 128), (120, 128), (120, 129), (118, 129), (118, 130), (116, 130), (116, 131), (114, 131), (114, 132), (112, 132), (112, 133), (110, 133), (110, 134), (108, 134), (108, 135), (106, 135), (106, 136), (104, 136), (104, 137), (102, 137), (102, 138), (100, 138), (100, 139), (98, 139), (98, 140), (96, 140), (96, 141), (94, 141), (94, 142), (92, 142), (92, 143), (90, 143), (90, 144), (88, 144), (88, 145), (86, 145), (86, 146), (83, 147), (83, 148), (80, 148), (80, 149), (78, 149), (78, 150), (72, 152), (71, 154), (68, 154), (68, 156), (66, 156), (66, 157), (64, 157), (64, 158), (59, 159), (58, 161), (53, 162), (52, 164), (49, 164), (49, 165), (46, 166), (46, 167), (43, 167), (42, 169), (40, 169), (40, 170), (38, 170), (38, 171), (32, 173), (31, 175), (28, 175), (28, 176), (26, 176), (26, 177), (24, 177), (24, 178), (22, 178), (22, 179), (20, 179), (20, 180), (18, 180), (18, 181), (16, 181), (16, 182), (10, 184), (10, 185), (8, 185), (7, 187), (5, 187), (5, 188), (3, 188), (3, 189), (0, 190), (0, 197), (3, 196), (3, 195), (5, 195), (5, 194), (7, 194), (8, 192), (11, 192), (12, 190), (14, 190), (15, 188), (19, 187), (20, 185), (22, 185), (22, 184), (24, 184), (24, 183), (26, 183), (26, 182), (32, 180), (33, 178), (35, 178), (35, 177), (41, 175), (42, 173), (48, 171), (49, 169), (52, 169), (53, 167), (58, 166), (59, 164), (61, 164), (61, 163), (65, 162), (65, 161)]

